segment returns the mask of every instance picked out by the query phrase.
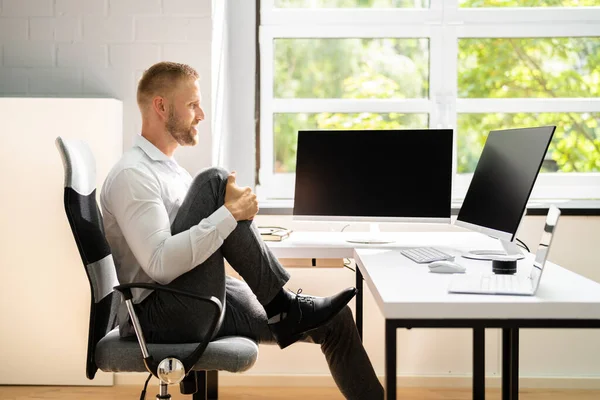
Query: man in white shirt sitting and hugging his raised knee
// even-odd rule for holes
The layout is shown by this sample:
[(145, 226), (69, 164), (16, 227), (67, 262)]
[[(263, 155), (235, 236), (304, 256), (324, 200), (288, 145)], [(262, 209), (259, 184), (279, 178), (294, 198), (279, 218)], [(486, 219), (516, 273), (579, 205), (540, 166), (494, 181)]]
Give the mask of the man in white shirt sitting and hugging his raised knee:
[[(197, 72), (155, 64), (144, 72), (137, 100), (142, 134), (109, 173), (100, 198), (119, 281), (215, 296), (224, 304), (215, 337), (242, 335), (281, 348), (298, 340), (318, 343), (347, 398), (382, 399), (347, 307), (356, 289), (326, 298), (284, 289), (289, 274), (252, 222), (258, 203), (251, 189), (220, 168), (192, 179), (173, 159), (179, 146), (198, 143), (204, 112)], [(244, 282), (226, 277), (224, 258)], [(212, 312), (205, 303), (145, 289), (133, 296), (149, 342), (205, 336)], [(132, 333), (122, 313), (119, 325), (121, 335)]]

